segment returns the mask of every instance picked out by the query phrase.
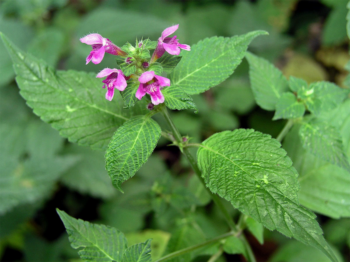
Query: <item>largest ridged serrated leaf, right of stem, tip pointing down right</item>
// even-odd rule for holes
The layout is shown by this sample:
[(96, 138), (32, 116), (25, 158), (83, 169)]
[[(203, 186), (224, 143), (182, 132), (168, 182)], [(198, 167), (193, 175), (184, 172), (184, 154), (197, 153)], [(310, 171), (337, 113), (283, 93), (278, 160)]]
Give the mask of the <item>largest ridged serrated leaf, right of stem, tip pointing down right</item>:
[(336, 261), (315, 215), (298, 203), (297, 172), (281, 144), (252, 129), (216, 133), (197, 160), (207, 187), (270, 230), (317, 247)]

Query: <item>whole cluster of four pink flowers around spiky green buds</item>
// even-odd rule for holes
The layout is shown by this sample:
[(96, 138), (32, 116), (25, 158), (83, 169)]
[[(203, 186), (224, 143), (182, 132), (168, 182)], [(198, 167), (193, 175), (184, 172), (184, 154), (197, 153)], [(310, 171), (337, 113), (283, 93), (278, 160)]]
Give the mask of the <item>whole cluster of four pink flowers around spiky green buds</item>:
[[(100, 63), (105, 53), (120, 56), (120, 59), (117, 59), (120, 61), (120, 69), (104, 68), (96, 75), (98, 78), (106, 78), (102, 81), (104, 83), (103, 88), (107, 88), (106, 99), (109, 101), (112, 100), (115, 88), (119, 91), (124, 91), (129, 83), (132, 85), (137, 83), (139, 87), (135, 96), (139, 100), (145, 94), (149, 94), (154, 105), (163, 103), (164, 96), (161, 90), (165, 86), (170, 86), (170, 80), (156, 74), (156, 69), (154, 68), (157, 67), (154, 65), (159, 65), (159, 63), (155, 63), (155, 61), (162, 57), (165, 52), (178, 55), (180, 54), (180, 49), (191, 50), (189, 45), (180, 44), (176, 36), (168, 37), (178, 28), (178, 24), (166, 28), (162, 32), (161, 37), (159, 37), (156, 45), (152, 43), (153, 41), (147, 39), (146, 41), (137, 41), (135, 47), (127, 43), (122, 48), (119, 48), (108, 38), (104, 38), (99, 34), (90, 34), (80, 38), (82, 43), (92, 46), (92, 51), (86, 57), (86, 64), (90, 61), (94, 64)], [(151, 49), (154, 49), (152, 57), (149, 54), (149, 50)]]

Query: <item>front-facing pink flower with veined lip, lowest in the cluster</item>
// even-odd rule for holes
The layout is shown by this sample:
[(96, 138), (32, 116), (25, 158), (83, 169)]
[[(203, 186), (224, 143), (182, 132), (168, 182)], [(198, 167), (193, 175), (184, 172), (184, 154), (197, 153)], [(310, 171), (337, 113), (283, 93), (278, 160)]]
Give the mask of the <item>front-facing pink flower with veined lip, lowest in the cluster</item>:
[(160, 90), (163, 86), (170, 86), (170, 79), (156, 75), (154, 71), (147, 71), (139, 77), (139, 81), (140, 85), (135, 94), (139, 100), (147, 93), (151, 96), (153, 104), (164, 102), (164, 96)]

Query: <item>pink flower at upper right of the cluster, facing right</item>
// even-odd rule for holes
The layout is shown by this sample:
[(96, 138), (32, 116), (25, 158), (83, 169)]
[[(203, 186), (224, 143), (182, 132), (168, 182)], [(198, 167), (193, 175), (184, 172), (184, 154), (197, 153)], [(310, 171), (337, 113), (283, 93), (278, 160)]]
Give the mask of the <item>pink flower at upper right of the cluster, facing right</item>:
[(165, 51), (167, 51), (169, 54), (178, 55), (180, 54), (180, 51), (181, 51), (180, 48), (187, 51), (191, 50), (191, 47), (189, 45), (180, 44), (177, 41), (176, 36), (167, 37), (173, 34), (177, 30), (177, 28), (179, 28), (179, 24), (176, 24), (175, 26), (172, 26), (172, 27), (168, 27), (162, 32), (161, 37), (158, 38), (158, 45), (154, 50), (154, 53), (151, 58), (151, 62), (160, 58), (165, 53)]

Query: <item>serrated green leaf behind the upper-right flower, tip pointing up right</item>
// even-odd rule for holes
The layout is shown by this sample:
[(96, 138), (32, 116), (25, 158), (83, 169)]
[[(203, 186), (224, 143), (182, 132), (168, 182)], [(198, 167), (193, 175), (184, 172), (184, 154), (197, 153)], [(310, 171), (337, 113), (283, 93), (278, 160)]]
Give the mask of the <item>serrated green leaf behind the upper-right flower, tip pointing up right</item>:
[(183, 51), (180, 63), (169, 75), (173, 85), (188, 94), (199, 94), (228, 78), (241, 63), (248, 44), (266, 31), (258, 30), (233, 37), (205, 38)]

